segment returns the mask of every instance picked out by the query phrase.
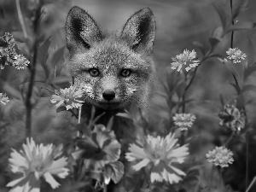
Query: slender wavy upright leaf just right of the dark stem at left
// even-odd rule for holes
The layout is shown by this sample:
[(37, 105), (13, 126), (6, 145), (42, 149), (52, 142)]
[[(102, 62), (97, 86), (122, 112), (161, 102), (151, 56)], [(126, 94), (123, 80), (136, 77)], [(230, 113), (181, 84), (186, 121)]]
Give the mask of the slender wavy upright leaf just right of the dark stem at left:
[(48, 59), (48, 50), (49, 50), (50, 41), (49, 38), (38, 48), (38, 63), (44, 68), (44, 73), (46, 75), (46, 79), (49, 76), (49, 68), (46, 65), (46, 61)]

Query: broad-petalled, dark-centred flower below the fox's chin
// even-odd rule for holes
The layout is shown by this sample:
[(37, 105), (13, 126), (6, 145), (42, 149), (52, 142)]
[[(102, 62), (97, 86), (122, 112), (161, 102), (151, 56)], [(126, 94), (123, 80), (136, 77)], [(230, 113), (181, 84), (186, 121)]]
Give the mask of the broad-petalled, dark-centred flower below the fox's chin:
[(73, 152), (74, 160), (84, 160), (87, 169), (102, 170), (105, 165), (119, 160), (121, 145), (113, 131), (104, 125), (96, 125), (90, 136), (78, 139), (78, 149)]

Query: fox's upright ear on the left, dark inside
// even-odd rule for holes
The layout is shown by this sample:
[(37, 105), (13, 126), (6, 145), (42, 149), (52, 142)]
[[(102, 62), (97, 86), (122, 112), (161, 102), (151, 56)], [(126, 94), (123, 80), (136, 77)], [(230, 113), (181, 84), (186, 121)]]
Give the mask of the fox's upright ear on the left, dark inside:
[(102, 32), (95, 20), (84, 9), (76, 6), (68, 12), (65, 30), (67, 49), (71, 52), (90, 49), (92, 44), (102, 40)]

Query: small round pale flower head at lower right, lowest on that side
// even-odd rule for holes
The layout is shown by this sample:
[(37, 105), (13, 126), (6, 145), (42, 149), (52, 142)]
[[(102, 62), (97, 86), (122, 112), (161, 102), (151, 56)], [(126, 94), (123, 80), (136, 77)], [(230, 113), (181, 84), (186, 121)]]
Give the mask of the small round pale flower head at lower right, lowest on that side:
[(214, 148), (212, 151), (209, 151), (206, 156), (207, 160), (212, 162), (214, 166), (227, 167), (234, 161), (232, 157), (233, 153), (224, 146)]

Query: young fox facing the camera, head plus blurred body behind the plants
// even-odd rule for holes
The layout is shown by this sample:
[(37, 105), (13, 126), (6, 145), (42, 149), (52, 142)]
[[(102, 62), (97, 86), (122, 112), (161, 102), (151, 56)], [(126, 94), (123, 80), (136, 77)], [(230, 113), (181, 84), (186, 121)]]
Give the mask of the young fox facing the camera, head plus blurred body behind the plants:
[[(132, 108), (147, 110), (150, 99), (155, 62), (152, 56), (156, 26), (151, 9), (138, 10), (125, 22), (119, 32), (103, 32), (96, 21), (77, 6), (69, 10), (65, 24), (67, 57), (64, 73), (72, 84), (85, 90), (82, 118), (103, 114), (97, 124), (107, 125), (117, 113)], [(32, 109), (32, 137), (40, 143), (69, 143), (77, 119), (68, 111), (56, 112), (49, 98), (41, 98)], [(7, 166), (6, 154), (25, 140), (26, 107), (21, 101), (12, 101), (4, 109), (0, 120), (0, 165)], [(37, 116), (44, 117), (43, 120)], [(131, 120), (113, 119), (117, 138), (136, 137)], [(1, 159), (5, 160), (4, 162)]]

